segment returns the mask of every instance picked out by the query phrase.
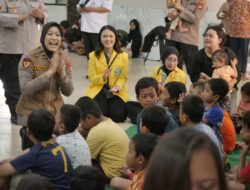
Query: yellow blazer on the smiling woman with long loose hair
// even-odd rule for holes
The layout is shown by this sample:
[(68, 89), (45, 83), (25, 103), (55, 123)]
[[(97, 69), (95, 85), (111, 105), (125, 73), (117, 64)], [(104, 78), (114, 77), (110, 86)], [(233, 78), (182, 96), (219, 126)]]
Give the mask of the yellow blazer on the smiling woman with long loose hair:
[[(110, 62), (114, 59), (117, 52), (113, 51)], [(125, 52), (119, 53), (110, 67), (111, 73), (109, 75), (109, 87), (117, 85), (120, 87), (118, 93), (113, 93), (119, 96), (124, 102), (128, 101), (128, 91), (125, 88), (125, 84), (128, 80), (128, 54)], [(88, 77), (90, 84), (86, 91), (86, 96), (94, 98), (103, 88), (103, 85), (107, 82), (103, 80), (103, 73), (108, 69), (106, 57), (102, 51), (100, 57), (97, 58), (95, 52), (89, 54), (89, 68)]]

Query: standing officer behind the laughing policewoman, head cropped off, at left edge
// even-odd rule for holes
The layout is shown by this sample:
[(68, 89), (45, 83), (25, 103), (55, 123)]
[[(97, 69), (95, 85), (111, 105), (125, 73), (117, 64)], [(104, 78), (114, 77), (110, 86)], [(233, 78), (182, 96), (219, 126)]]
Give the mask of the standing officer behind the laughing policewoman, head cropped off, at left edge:
[(18, 63), (22, 54), (39, 46), (38, 25), (45, 17), (43, 0), (0, 0), (0, 79), (14, 124), (20, 96)]

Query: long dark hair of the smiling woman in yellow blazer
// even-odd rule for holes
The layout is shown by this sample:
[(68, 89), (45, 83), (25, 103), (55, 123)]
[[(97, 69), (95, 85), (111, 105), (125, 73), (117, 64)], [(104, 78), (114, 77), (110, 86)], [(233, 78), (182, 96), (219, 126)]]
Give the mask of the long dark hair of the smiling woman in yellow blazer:
[(117, 33), (116, 33), (116, 30), (113, 26), (111, 25), (105, 25), (101, 28), (100, 32), (99, 32), (99, 35), (98, 35), (98, 46), (95, 50), (95, 55), (97, 57), (100, 57), (100, 54), (101, 52), (104, 50), (104, 46), (103, 44), (101, 43), (101, 35), (102, 35), (102, 32), (104, 30), (110, 30), (112, 31), (114, 34), (115, 34), (115, 44), (114, 44), (114, 50), (117, 52), (117, 53), (121, 53), (122, 50), (121, 50), (121, 47), (120, 47), (120, 44), (119, 44), (119, 39), (118, 39), (118, 36), (117, 36)]

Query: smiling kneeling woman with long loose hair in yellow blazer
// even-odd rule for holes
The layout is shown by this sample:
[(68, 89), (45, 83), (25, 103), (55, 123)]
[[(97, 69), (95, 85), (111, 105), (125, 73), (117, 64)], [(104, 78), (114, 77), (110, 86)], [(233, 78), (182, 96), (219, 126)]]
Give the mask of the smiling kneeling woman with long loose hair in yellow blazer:
[(128, 54), (121, 51), (117, 33), (110, 25), (101, 28), (98, 40), (97, 50), (89, 54), (86, 96), (99, 104), (105, 116), (123, 122), (127, 117)]

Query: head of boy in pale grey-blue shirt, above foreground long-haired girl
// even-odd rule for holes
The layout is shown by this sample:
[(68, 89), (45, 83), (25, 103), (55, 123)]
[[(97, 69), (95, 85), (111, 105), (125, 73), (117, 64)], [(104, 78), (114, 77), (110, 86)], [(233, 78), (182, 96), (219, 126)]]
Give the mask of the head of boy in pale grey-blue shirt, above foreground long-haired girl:
[(205, 106), (202, 99), (196, 95), (188, 95), (184, 97), (180, 106), (180, 120), (183, 125), (191, 123), (199, 123), (202, 120)]

